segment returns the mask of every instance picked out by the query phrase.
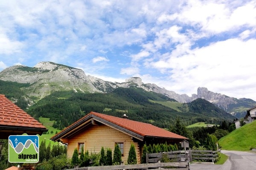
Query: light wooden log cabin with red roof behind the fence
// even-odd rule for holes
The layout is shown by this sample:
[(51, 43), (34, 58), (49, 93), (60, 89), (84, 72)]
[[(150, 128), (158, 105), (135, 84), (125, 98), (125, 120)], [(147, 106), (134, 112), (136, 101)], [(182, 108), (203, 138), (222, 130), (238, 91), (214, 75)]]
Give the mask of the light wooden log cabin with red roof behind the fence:
[(84, 150), (100, 152), (102, 147), (111, 148), (119, 144), (122, 161), (128, 159), (131, 144), (135, 145), (137, 161), (140, 163), (143, 145), (165, 143), (174, 144), (187, 139), (148, 123), (91, 112), (61, 132), (52, 136), (52, 141), (67, 144), (67, 156), (72, 157), (75, 148), (81, 153)]

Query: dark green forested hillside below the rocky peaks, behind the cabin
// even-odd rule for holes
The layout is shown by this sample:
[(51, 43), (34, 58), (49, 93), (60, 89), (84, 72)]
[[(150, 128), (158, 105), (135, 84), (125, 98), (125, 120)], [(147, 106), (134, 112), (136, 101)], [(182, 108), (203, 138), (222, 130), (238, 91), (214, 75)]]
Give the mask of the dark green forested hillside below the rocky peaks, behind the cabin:
[[(32, 105), (27, 112), (36, 119), (42, 116), (55, 120), (54, 127), (59, 129), (67, 127), (90, 111), (118, 117), (125, 113), (131, 120), (147, 122), (163, 128), (169, 128), (177, 117), (185, 125), (195, 122), (219, 124), (223, 120), (232, 121), (235, 118), (229, 113), (215, 109), (215, 106), (209, 102), (198, 105), (201, 107), (198, 111), (192, 109), (188, 112), (179, 112), (149, 100), (174, 101), (164, 95), (147, 92), (140, 88), (117, 88), (109, 94), (55, 92)], [(183, 104), (183, 107), (192, 108), (190, 105), (194, 103)], [(207, 104), (211, 105), (209, 108), (213, 107), (212, 109), (216, 111), (204, 111)]]

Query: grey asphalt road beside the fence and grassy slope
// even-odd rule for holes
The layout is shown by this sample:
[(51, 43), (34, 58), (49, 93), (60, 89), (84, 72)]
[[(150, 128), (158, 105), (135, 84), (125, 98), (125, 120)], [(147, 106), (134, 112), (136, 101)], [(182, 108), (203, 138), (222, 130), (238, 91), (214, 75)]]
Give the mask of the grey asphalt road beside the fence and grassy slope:
[(229, 156), (223, 165), (190, 164), (190, 170), (256, 170), (256, 153), (221, 150)]

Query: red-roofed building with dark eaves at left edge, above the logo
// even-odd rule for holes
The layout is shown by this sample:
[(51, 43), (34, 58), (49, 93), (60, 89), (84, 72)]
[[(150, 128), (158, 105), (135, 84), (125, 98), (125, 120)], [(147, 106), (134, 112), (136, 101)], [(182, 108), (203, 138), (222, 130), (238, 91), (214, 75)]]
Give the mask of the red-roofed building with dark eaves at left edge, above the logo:
[(41, 135), (48, 130), (44, 125), (23, 111), (5, 95), (0, 94), (0, 139), (10, 135)]

